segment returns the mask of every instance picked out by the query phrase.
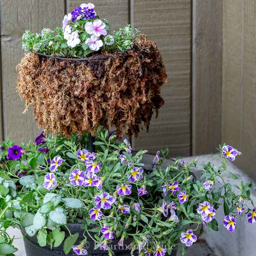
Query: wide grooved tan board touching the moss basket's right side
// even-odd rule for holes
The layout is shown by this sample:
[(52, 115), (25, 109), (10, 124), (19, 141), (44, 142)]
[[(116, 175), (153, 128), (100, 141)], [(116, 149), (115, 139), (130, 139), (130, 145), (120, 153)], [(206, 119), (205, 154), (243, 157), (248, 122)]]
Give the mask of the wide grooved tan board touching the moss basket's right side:
[(134, 0), (132, 6), (131, 23), (158, 42), (168, 74), (159, 118), (152, 119), (148, 133), (140, 132), (142, 139), (132, 138), (133, 149), (155, 153), (169, 147), (172, 156), (190, 155), (191, 1)]

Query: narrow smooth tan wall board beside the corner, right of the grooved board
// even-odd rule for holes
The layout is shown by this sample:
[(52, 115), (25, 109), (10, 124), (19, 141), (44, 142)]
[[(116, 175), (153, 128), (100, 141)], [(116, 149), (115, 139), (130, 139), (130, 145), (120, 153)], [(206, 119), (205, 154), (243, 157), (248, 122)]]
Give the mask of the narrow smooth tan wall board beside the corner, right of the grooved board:
[(213, 153), (221, 143), (222, 16), (222, 0), (193, 0), (193, 155)]

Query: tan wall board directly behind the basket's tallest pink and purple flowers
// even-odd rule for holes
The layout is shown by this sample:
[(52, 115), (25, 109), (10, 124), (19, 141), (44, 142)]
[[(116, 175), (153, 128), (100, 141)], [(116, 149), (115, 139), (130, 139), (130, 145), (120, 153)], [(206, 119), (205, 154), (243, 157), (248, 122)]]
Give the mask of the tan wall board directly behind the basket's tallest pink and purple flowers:
[[(129, 23), (128, 0), (94, 0), (95, 11), (100, 18), (109, 21), (110, 29), (115, 31)], [(83, 3), (81, 0), (68, 0), (67, 12), (72, 12)]]

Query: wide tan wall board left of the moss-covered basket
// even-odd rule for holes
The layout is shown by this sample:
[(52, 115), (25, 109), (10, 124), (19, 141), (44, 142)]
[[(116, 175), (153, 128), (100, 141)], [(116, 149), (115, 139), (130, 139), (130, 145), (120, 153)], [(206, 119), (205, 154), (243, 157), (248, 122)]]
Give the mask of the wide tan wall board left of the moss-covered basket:
[(4, 136), (16, 143), (34, 139), (40, 132), (34, 120), (32, 107), (24, 115), (25, 102), (16, 93), (16, 65), (24, 56), (22, 34), (29, 29), (41, 32), (42, 28), (62, 25), (64, 0), (2, 0), (1, 1), (1, 52), (3, 85)]

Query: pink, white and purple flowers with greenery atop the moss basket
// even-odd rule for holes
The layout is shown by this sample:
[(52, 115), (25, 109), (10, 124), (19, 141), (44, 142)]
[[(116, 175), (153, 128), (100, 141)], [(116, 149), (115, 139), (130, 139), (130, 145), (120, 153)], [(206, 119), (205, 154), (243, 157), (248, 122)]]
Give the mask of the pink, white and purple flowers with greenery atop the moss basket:
[(136, 40), (136, 29), (130, 25), (110, 34), (109, 23), (100, 19), (92, 3), (83, 3), (64, 16), (62, 28), (44, 28), (41, 34), (26, 30), (22, 37), (25, 51), (62, 57), (86, 57), (99, 50), (113, 53), (130, 50)]

